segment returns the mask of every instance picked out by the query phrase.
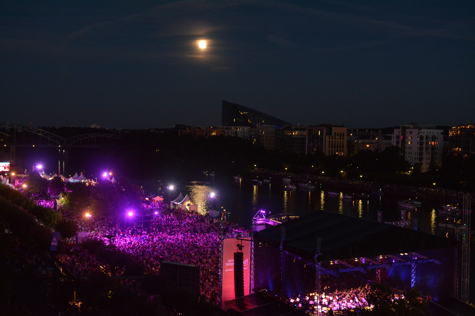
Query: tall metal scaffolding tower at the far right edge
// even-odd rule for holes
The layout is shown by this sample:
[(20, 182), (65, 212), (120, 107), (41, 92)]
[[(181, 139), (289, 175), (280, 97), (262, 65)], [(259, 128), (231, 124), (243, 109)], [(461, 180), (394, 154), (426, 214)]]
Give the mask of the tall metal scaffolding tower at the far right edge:
[(470, 194), (464, 195), (463, 204), (463, 235), (462, 235), (462, 282), (461, 299), (468, 304), (468, 285), (470, 280), (470, 212), (472, 199)]

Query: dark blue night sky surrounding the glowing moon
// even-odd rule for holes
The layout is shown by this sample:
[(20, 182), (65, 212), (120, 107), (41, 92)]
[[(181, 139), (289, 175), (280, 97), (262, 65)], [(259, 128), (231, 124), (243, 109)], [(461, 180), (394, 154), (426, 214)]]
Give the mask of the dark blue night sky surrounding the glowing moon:
[[(2, 122), (475, 122), (474, 1), (2, 1)], [(200, 50), (198, 40), (207, 40)]]

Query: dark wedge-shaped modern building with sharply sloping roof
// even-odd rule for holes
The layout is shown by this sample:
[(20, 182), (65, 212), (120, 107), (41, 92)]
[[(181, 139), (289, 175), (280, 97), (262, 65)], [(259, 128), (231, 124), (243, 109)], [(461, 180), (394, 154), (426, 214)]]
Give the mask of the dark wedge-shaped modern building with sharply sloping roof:
[(280, 118), (225, 100), (222, 100), (221, 110), (222, 126), (274, 125), (284, 127), (292, 125)]

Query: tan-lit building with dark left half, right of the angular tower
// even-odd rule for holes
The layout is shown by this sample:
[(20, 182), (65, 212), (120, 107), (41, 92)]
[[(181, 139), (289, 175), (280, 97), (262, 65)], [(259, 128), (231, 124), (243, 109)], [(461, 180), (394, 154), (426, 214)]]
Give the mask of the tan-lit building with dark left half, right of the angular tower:
[(307, 127), (305, 153), (347, 155), (347, 129), (336, 124)]

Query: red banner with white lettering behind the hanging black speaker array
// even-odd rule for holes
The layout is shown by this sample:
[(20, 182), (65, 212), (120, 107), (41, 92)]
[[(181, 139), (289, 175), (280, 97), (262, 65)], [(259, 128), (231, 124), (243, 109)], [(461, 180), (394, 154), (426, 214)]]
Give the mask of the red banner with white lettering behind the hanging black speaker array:
[(222, 309), (229, 309), (225, 305), (226, 301), (234, 299), (234, 253), (237, 252), (237, 244), (244, 246), (244, 295), (249, 294), (251, 281), (251, 242), (250, 237), (244, 237), (249, 241), (237, 240), (236, 238), (228, 238), (223, 240), (223, 295)]

